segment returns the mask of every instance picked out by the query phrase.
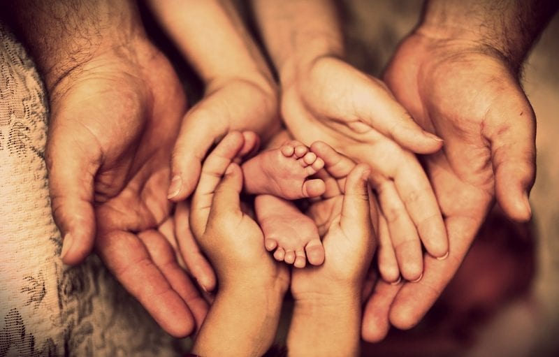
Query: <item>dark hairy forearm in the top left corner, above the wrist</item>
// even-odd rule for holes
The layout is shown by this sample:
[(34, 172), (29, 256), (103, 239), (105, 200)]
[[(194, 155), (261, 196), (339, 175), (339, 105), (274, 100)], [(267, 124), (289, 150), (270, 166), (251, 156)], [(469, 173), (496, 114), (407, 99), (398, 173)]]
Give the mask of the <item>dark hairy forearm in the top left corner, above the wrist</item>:
[(133, 0), (13, 0), (3, 10), (48, 88), (97, 54), (145, 37)]

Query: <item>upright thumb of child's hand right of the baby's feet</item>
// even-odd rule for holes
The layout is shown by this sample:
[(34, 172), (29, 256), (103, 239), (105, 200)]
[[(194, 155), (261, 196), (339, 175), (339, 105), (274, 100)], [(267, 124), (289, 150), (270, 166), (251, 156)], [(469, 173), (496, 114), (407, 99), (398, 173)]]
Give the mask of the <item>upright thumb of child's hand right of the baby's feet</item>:
[[(361, 231), (364, 227), (370, 228), (370, 203), (368, 179), (370, 168), (360, 163), (347, 175), (342, 203), (342, 217), (340, 224), (348, 228)], [(371, 231), (371, 229), (369, 229)]]

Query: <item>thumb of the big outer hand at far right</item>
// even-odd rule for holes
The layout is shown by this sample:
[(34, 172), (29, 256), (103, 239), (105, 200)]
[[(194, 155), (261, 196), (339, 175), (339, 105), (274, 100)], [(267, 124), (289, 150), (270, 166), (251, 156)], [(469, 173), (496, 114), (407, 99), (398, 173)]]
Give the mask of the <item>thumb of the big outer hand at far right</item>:
[(504, 212), (516, 221), (532, 216), (528, 194), (536, 171), (535, 114), (518, 87), (515, 95), (502, 96), (502, 103), (488, 111), (486, 137), (491, 143), (495, 194)]

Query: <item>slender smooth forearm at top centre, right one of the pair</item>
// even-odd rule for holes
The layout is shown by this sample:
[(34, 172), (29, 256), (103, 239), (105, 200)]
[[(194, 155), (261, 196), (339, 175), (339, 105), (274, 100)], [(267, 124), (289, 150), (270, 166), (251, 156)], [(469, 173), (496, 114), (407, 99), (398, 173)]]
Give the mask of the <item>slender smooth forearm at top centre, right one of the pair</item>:
[(266, 48), (285, 80), (319, 57), (342, 57), (344, 43), (331, 0), (252, 0)]

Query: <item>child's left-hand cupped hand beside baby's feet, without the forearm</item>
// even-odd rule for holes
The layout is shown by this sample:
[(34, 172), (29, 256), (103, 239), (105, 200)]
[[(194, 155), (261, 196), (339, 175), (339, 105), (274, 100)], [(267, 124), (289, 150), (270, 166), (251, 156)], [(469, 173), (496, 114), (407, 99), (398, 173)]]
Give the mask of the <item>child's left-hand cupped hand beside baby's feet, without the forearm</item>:
[(192, 197), (191, 228), (215, 268), (220, 290), (237, 284), (245, 288), (265, 284), (285, 291), (289, 285), (286, 267), (266, 252), (260, 227), (240, 208), (242, 172), (232, 161), (244, 144), (241, 133), (228, 133), (205, 159)]

